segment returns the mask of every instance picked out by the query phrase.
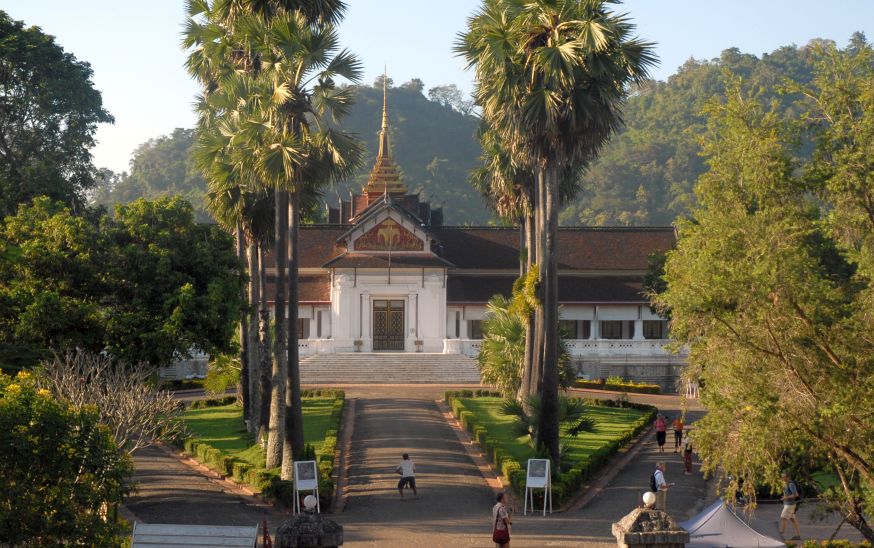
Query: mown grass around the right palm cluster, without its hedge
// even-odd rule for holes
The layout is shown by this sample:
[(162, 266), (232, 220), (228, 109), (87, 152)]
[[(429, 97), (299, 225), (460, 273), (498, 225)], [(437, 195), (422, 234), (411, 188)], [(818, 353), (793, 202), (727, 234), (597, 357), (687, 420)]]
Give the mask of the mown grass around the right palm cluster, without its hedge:
[[(488, 431), (489, 438), (525, 466), (525, 462), (534, 456), (534, 450), (526, 438), (513, 436), (510, 426), (513, 417), (501, 414), (502, 401), (500, 398), (461, 398), (464, 406), (476, 416), (477, 423)], [(636, 409), (613, 407), (587, 407), (586, 414), (595, 421), (594, 432), (582, 432), (576, 438), (562, 436), (562, 443), (569, 447), (568, 458), (572, 461), (588, 457), (604, 444), (622, 437), (636, 420), (645, 415)]]

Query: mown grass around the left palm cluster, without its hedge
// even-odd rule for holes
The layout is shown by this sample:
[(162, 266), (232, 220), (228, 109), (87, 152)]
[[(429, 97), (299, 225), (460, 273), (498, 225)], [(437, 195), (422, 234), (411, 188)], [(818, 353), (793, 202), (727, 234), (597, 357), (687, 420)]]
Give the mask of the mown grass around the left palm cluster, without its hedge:
[[(321, 452), (325, 432), (331, 425), (334, 398), (304, 398), (304, 440)], [(191, 434), (222, 453), (264, 467), (264, 452), (254, 445), (254, 437), (243, 426), (243, 410), (235, 404), (189, 409), (184, 414)]]

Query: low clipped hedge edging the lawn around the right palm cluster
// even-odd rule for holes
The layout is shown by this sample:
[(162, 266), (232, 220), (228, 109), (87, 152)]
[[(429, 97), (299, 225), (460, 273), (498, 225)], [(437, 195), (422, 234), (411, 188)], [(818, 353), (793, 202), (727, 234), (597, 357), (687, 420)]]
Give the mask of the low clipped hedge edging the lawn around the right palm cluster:
[[(476, 392), (480, 393), (476, 394)], [(449, 391), (445, 394), (452, 413), (461, 423), (462, 427), (470, 432), (471, 436), (479, 443), (486, 458), (507, 479), (512, 489), (520, 497), (523, 497), (525, 493), (525, 468), (522, 463), (511, 457), (497, 441), (488, 437), (486, 428), (478, 424), (474, 413), (465, 407), (462, 398), (475, 397), (500, 397), (500, 394), (486, 390)], [(552, 497), (553, 502), (559, 506), (578, 493), (583, 483), (597, 474), (620, 448), (630, 443), (643, 432), (655, 419), (657, 412), (656, 408), (650, 405), (625, 401), (586, 398), (583, 402), (593, 407), (628, 408), (642, 411), (645, 414), (634, 421), (631, 427), (620, 438), (606, 443), (587, 458), (574, 462), (570, 470), (554, 474), (552, 479)]]

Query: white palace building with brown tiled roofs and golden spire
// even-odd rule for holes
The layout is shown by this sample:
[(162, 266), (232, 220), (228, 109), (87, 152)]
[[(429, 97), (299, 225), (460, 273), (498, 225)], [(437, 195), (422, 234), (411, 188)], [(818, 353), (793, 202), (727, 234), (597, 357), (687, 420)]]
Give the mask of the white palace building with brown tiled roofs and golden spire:
[[(379, 151), (360, 194), (300, 230), (300, 354), (475, 356), (486, 303), (519, 275), (518, 228), (443, 226), (392, 158), (383, 101)], [(642, 292), (648, 257), (671, 227), (560, 228), (559, 299), (581, 375), (670, 385), (682, 358)], [(270, 293), (268, 293), (269, 295)]]

